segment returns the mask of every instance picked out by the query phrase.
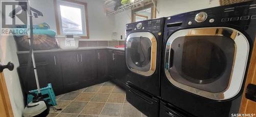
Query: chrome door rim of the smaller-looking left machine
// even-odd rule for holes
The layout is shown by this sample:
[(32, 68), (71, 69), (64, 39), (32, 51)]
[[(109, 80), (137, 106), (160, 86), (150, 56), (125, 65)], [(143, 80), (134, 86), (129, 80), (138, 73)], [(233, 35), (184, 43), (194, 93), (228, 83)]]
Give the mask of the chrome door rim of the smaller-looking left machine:
[(152, 33), (149, 33), (149, 32), (136, 32), (136, 33), (131, 33), (127, 39), (126, 39), (126, 42), (125, 42), (125, 56), (127, 57), (127, 45), (128, 45), (128, 42), (131, 38), (133, 37), (146, 37), (148, 39), (150, 39), (151, 41), (151, 44), (152, 44), (152, 47), (151, 47), (151, 64), (150, 64), (150, 70), (144, 72), (144, 71), (140, 71), (140, 70), (137, 70), (137, 69), (134, 69), (134, 68), (130, 68), (129, 67), (129, 64), (127, 63), (127, 59), (126, 59), (126, 65), (127, 67), (129, 68), (130, 71), (136, 73), (136, 74), (140, 74), (140, 75), (143, 75), (143, 76), (151, 76), (155, 73), (156, 71), (156, 57), (157, 57), (157, 40), (156, 40), (156, 37), (152, 34)]

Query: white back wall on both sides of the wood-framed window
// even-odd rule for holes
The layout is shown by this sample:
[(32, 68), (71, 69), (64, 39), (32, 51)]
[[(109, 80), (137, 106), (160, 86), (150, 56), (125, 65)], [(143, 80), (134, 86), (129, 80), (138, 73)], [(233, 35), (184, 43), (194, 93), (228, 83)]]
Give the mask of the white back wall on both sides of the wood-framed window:
[[(90, 40), (111, 40), (115, 25), (114, 16), (106, 16), (101, 0), (77, 0), (87, 3)], [(30, 0), (31, 6), (44, 14), (34, 24), (47, 22), (56, 31), (53, 0)]]

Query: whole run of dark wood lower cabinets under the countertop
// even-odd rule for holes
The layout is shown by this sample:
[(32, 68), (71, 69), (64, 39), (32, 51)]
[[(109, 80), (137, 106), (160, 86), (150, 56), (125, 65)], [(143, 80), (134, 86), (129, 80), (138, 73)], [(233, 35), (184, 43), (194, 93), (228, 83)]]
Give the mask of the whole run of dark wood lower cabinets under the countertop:
[[(29, 53), (18, 53), (18, 74), (24, 92), (36, 89), (33, 67), (26, 76)], [(52, 83), (55, 95), (108, 81), (126, 82), (124, 51), (110, 49), (34, 53), (40, 87)]]

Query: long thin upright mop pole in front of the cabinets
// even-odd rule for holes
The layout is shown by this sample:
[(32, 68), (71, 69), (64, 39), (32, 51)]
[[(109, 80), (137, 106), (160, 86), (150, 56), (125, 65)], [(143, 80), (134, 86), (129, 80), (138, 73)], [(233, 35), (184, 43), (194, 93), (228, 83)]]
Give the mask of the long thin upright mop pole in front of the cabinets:
[(30, 24), (30, 35), (29, 35), (29, 44), (32, 49), (32, 62), (33, 62), (33, 68), (34, 68), (34, 73), (35, 73), (35, 81), (36, 81), (36, 86), (37, 86), (37, 92), (38, 94), (41, 94), (40, 91), (40, 86), (39, 86), (39, 81), (38, 81), (38, 75), (37, 75), (37, 70), (36, 70), (36, 64), (35, 64), (35, 57), (34, 57), (34, 51), (33, 51), (33, 21), (32, 21), (32, 13), (31, 13), (31, 9), (30, 9), (30, 5), (29, 2), (27, 2), (27, 7), (28, 7), (28, 12), (29, 12), (29, 24)]

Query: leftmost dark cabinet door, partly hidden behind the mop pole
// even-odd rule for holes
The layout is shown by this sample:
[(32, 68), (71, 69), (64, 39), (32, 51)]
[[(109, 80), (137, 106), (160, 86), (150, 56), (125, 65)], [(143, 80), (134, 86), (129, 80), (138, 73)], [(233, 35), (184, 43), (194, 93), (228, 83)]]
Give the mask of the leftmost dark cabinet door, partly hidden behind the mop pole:
[[(40, 88), (46, 87), (48, 83), (52, 83), (55, 95), (62, 94), (61, 65), (57, 60), (56, 53), (35, 53), (34, 56)], [(18, 74), (26, 93), (37, 89), (32, 64), (29, 73), (26, 75), (28, 58), (28, 53), (18, 54), (20, 64)]]

